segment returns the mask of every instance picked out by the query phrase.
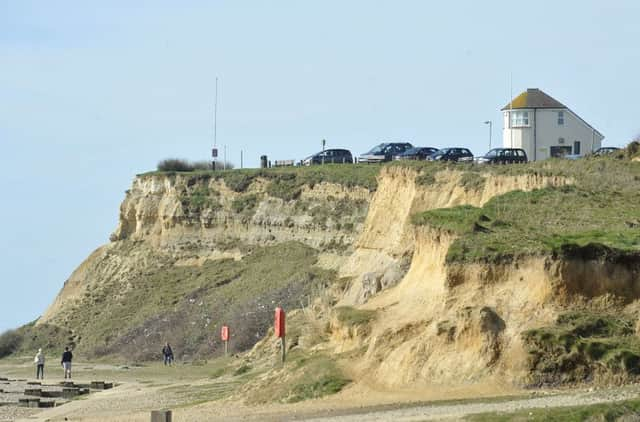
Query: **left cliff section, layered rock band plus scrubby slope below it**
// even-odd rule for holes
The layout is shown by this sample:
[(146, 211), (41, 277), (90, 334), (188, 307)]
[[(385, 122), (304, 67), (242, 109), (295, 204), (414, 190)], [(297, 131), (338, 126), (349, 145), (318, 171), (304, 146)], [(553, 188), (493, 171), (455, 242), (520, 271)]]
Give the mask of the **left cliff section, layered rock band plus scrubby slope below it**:
[(111, 243), (73, 272), (38, 325), (70, 329), (89, 355), (148, 359), (171, 340), (181, 355), (209, 356), (231, 321), (233, 350), (251, 347), (273, 303), (299, 307), (333, 282), (371, 195), (319, 183), (279, 197), (270, 183), (237, 192), (212, 175), (137, 177)]

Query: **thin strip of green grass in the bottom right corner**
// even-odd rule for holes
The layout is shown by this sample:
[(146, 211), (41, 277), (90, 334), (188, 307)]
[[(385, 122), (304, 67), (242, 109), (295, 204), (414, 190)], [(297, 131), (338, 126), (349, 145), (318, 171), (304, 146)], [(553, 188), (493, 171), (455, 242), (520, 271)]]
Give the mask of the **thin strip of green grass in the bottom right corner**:
[[(628, 419), (623, 419), (623, 418)], [(581, 422), (637, 420), (640, 418), (640, 400), (627, 400), (589, 406), (526, 409), (512, 413), (481, 413), (470, 415), (470, 422)]]

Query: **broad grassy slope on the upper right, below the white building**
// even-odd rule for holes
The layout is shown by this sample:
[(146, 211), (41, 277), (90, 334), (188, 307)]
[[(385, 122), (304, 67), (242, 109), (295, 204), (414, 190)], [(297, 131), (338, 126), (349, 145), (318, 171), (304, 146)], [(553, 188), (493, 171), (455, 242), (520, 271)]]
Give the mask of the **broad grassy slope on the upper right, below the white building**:
[[(468, 173), (477, 166), (461, 166)], [(483, 169), (485, 169), (483, 167)], [(519, 255), (567, 253), (574, 246), (604, 245), (606, 253), (640, 252), (640, 166), (615, 158), (552, 160), (526, 166), (487, 167), (501, 174), (540, 172), (575, 180), (575, 186), (510, 192), (482, 208), (462, 206), (413, 216), (459, 235), (447, 259), (510, 260)], [(470, 184), (477, 188), (473, 177)]]

